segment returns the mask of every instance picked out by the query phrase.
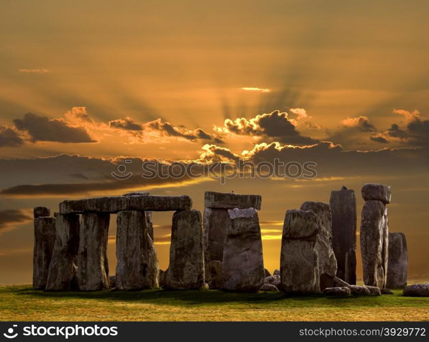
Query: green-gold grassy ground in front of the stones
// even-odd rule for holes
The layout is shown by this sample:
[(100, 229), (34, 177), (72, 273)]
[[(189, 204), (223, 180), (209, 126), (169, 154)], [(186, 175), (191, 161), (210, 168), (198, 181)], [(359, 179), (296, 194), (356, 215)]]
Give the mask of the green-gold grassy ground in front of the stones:
[(223, 291), (44, 292), (0, 287), (1, 321), (428, 321), (429, 298)]

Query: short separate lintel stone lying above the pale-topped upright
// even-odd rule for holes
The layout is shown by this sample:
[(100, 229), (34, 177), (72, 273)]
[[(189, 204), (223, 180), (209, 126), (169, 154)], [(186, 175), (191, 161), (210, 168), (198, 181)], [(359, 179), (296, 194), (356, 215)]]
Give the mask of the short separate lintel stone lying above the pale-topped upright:
[(259, 195), (240, 195), (222, 192), (205, 192), (204, 207), (217, 209), (248, 209), (261, 210), (262, 198)]

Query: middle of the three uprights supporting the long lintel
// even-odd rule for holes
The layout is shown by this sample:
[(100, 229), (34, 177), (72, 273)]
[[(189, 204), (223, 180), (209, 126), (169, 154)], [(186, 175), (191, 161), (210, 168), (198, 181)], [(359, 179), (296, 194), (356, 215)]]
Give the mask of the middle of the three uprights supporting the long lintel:
[(109, 289), (108, 213), (83, 213), (79, 232), (77, 280), (81, 291)]

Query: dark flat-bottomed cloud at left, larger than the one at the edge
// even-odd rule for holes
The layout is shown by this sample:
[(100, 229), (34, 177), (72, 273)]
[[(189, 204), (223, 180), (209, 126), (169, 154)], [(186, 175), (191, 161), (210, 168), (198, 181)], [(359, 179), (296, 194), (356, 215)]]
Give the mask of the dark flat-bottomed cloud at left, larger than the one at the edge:
[(27, 113), (23, 119), (15, 119), (16, 129), (26, 131), (32, 142), (96, 142), (84, 127), (73, 127), (62, 118)]

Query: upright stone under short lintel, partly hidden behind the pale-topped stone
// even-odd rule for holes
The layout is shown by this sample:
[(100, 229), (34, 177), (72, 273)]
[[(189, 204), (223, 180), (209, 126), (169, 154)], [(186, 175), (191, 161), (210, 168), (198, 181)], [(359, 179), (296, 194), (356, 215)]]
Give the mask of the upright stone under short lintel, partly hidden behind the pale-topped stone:
[(204, 209), (204, 258), (206, 265), (213, 260), (222, 262), (228, 226), (229, 213), (227, 209)]

